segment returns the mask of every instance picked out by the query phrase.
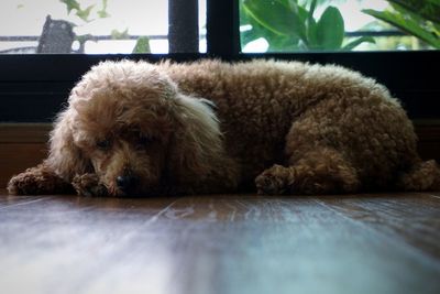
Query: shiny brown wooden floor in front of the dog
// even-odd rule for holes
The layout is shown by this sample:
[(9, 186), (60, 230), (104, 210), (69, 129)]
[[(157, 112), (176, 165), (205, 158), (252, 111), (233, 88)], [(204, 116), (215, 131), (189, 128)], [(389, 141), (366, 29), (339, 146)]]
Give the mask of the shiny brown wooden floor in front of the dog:
[(438, 294), (440, 193), (0, 196), (0, 292)]

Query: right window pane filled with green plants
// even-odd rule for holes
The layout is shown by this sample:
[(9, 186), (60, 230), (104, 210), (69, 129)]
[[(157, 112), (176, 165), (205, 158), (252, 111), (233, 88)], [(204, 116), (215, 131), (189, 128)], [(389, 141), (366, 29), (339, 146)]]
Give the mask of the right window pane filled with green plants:
[(432, 0), (240, 0), (243, 52), (440, 48)]

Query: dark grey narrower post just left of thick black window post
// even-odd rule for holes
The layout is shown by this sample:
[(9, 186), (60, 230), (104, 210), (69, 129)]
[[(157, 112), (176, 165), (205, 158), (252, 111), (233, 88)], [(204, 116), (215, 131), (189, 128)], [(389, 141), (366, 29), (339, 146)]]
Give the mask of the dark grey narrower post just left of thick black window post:
[(169, 53), (199, 52), (199, 13), (197, 0), (168, 0)]

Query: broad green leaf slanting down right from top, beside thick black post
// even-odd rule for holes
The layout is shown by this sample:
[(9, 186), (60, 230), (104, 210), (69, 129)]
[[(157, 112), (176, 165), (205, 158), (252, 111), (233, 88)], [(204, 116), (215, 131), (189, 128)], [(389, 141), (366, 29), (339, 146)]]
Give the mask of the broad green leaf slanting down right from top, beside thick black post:
[(244, 0), (243, 9), (250, 18), (274, 34), (306, 36), (305, 25), (295, 11), (280, 1)]

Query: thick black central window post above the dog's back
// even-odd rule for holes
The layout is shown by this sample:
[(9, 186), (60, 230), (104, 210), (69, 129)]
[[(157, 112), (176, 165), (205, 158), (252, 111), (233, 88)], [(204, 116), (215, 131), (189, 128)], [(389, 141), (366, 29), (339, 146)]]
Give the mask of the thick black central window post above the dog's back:
[(207, 0), (207, 51), (233, 59), (240, 53), (238, 0)]

